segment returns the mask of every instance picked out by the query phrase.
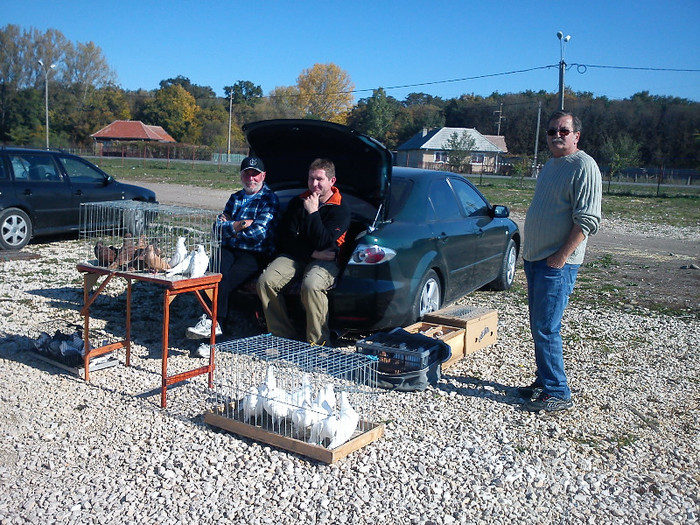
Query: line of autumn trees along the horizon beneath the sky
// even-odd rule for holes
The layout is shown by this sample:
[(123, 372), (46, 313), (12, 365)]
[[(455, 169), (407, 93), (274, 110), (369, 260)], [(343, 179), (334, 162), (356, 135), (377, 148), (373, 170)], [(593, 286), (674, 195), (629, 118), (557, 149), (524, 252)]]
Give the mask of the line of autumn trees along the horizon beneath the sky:
[[(43, 66), (39, 63), (43, 62)], [(54, 69), (47, 69), (55, 64)], [(101, 49), (72, 43), (55, 29), (0, 28), (0, 142), (41, 146), (45, 82), (49, 86), (51, 145), (89, 147), (90, 134), (114, 120), (162, 126), (178, 142), (245, 151), (241, 127), (271, 118), (315, 118), (347, 124), (395, 149), (423, 128), (476, 128), (505, 136), (511, 155), (530, 159), (538, 137), (538, 159), (547, 157), (547, 117), (558, 109), (557, 93), (526, 91), (464, 94), (443, 99), (410, 93), (396, 99), (377, 88), (353, 102), (354, 85), (335, 64), (303, 70), (293, 86), (264, 94), (251, 80), (210, 86), (177, 76), (155, 90), (124, 90), (116, 84)], [(611, 100), (588, 92), (565, 93), (565, 108), (583, 122), (581, 147), (613, 169), (700, 167), (700, 103), (651, 95)], [(538, 113), (541, 125), (537, 129)], [(229, 135), (229, 122), (231, 133)]]

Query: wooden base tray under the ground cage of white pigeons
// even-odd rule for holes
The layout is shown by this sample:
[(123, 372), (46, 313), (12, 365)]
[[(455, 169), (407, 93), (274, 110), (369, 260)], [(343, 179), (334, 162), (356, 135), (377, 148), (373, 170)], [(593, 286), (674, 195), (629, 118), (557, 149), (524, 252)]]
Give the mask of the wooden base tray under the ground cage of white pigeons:
[(215, 407), (204, 413), (204, 422), (214, 427), (233, 432), (239, 436), (247, 437), (260, 443), (266, 443), (273, 447), (300, 454), (329, 465), (335, 463), (339, 459), (343, 459), (351, 452), (361, 449), (384, 435), (383, 423), (367, 423), (360, 421), (359, 426), (361, 428), (367, 428), (368, 430), (346, 441), (339, 447), (326, 448), (293, 437), (270, 432), (261, 427), (244, 423), (243, 421), (231, 419), (222, 415), (224, 413), (224, 406)]

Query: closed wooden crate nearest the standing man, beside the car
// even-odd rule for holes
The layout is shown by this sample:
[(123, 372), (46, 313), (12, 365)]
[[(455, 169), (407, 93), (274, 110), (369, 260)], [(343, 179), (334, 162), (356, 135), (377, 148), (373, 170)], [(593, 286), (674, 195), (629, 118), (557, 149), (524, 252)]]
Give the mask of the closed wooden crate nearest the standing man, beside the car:
[(498, 339), (498, 312), (488, 308), (453, 306), (426, 314), (423, 321), (464, 328), (464, 355), (486, 348)]

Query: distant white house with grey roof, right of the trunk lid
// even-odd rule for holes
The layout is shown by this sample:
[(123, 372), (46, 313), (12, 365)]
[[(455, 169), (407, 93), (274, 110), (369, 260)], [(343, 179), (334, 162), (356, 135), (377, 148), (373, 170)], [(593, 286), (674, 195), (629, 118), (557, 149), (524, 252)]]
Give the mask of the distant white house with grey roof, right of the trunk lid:
[(474, 128), (423, 129), (396, 150), (396, 165), (412, 168), (444, 170), (449, 168), (450, 152), (447, 141), (453, 133), (467, 133), (474, 141), (468, 171), (470, 173), (498, 173), (501, 155), (508, 152), (502, 135), (482, 135)]

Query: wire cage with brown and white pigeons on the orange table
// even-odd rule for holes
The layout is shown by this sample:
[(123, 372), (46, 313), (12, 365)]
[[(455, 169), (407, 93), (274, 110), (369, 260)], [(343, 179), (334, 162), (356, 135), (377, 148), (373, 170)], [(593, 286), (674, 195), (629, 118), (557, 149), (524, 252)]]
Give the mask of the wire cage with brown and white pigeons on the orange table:
[(80, 239), (93, 266), (172, 280), (219, 273), (221, 230), (211, 210), (129, 200), (80, 207)]

